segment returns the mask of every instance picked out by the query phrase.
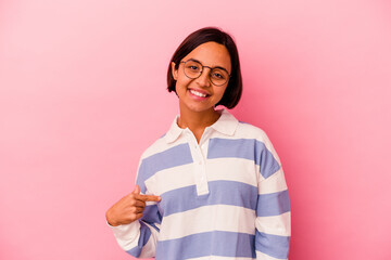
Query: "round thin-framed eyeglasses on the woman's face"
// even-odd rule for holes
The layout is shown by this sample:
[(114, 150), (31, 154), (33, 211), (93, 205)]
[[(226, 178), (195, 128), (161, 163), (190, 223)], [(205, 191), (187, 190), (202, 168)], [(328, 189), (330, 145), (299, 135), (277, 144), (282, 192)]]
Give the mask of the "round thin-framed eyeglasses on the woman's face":
[(211, 82), (214, 86), (223, 86), (230, 78), (230, 75), (228, 74), (228, 72), (222, 67), (213, 67), (212, 68), (209, 66), (203, 66), (200, 62), (194, 61), (194, 60), (189, 60), (187, 62), (180, 62), (180, 63), (185, 63), (185, 66), (184, 66), (185, 75), (191, 79), (199, 78), (201, 76), (204, 67), (207, 67), (211, 69), (209, 77), (210, 77)]

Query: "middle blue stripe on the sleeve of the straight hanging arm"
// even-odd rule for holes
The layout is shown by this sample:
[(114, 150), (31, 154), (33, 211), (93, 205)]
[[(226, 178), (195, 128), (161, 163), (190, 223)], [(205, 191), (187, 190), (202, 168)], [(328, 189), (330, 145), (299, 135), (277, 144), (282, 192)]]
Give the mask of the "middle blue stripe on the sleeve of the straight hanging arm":
[(256, 216), (277, 216), (290, 211), (288, 191), (261, 194), (257, 199)]

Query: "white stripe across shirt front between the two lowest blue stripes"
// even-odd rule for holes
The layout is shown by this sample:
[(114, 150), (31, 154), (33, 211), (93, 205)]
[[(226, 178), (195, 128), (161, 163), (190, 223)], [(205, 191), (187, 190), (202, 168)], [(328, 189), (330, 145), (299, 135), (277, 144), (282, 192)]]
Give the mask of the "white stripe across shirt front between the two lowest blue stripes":
[[(160, 240), (175, 239), (214, 230), (255, 235), (255, 211), (230, 205), (204, 206), (164, 218)], [(189, 224), (189, 220), (192, 221)]]

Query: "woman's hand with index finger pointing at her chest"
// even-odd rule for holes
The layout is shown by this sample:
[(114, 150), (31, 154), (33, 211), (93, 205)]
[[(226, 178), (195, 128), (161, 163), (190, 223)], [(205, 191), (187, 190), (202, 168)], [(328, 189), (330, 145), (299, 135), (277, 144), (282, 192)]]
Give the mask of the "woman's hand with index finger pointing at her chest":
[(106, 211), (108, 223), (112, 226), (129, 224), (142, 217), (146, 202), (160, 202), (162, 198), (153, 195), (141, 195), (140, 186), (119, 199)]

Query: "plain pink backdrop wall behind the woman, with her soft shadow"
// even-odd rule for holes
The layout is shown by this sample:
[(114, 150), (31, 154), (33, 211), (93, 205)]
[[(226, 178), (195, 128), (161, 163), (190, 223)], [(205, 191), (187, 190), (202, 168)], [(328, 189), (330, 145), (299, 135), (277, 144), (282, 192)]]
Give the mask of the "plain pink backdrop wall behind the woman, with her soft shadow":
[(0, 1), (0, 259), (131, 259), (104, 213), (178, 113), (172, 54), (210, 25), (239, 48), (232, 113), (282, 160), (290, 259), (391, 259), (390, 1), (235, 2)]

